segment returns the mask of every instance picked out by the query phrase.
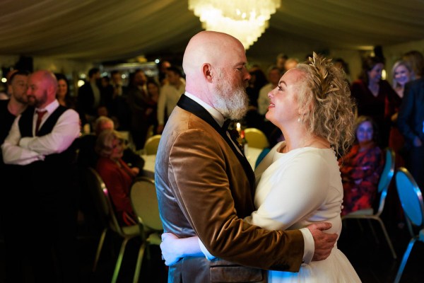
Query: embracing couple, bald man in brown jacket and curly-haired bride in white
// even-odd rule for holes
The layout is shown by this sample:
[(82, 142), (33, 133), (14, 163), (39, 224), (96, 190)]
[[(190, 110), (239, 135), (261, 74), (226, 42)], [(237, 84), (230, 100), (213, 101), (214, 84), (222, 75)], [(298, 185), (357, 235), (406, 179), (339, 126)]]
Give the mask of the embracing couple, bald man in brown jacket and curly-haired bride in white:
[(254, 173), (223, 127), (247, 110), (246, 64), (225, 33), (198, 33), (184, 52), (186, 91), (155, 161), (168, 281), (360, 282), (336, 246), (337, 154), (353, 140), (355, 109), (342, 71), (314, 54), (281, 77), (266, 118), (285, 141)]

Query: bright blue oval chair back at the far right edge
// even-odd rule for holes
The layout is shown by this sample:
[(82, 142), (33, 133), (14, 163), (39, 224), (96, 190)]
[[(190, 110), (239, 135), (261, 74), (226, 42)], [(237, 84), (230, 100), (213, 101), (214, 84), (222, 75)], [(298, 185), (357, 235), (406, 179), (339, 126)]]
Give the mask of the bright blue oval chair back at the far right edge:
[(423, 195), (411, 173), (404, 167), (396, 172), (396, 189), (408, 219), (416, 226), (423, 226)]

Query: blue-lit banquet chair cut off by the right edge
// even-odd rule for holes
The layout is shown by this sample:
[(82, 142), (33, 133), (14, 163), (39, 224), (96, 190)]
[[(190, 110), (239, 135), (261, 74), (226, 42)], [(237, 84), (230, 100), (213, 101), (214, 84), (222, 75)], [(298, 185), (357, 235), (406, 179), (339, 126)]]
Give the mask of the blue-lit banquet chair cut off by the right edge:
[[(394, 282), (397, 283), (401, 279), (402, 272), (404, 272), (406, 261), (408, 260), (413, 245), (416, 241), (424, 243), (424, 204), (420, 188), (406, 168), (399, 168), (396, 171), (395, 179), (399, 200), (401, 200), (402, 209), (404, 209), (408, 224), (412, 224), (419, 229), (417, 233), (413, 233), (411, 241), (409, 241), (408, 247), (405, 250), (401, 265), (394, 279)], [(413, 230), (411, 229), (411, 231)]]

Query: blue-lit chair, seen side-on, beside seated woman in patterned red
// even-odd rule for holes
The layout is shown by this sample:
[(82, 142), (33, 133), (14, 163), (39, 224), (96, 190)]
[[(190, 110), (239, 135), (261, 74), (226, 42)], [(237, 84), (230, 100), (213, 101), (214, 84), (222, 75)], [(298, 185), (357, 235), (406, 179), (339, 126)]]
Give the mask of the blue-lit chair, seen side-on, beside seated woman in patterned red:
[[(382, 214), (384, 209), (384, 203), (386, 202), (387, 190), (389, 190), (389, 185), (394, 175), (394, 161), (396, 157), (393, 149), (390, 149), (390, 148), (387, 148), (385, 150), (385, 155), (386, 155), (386, 160), (384, 162), (384, 169), (383, 169), (382, 175), (379, 178), (379, 183), (378, 183), (379, 200), (378, 200), (377, 209), (370, 208), (370, 209), (357, 210), (355, 212), (351, 212), (350, 214), (346, 214), (342, 216), (341, 220), (346, 221), (346, 219), (367, 219), (368, 221), (370, 220), (377, 221), (382, 227), (384, 238), (386, 238), (387, 244), (389, 245), (391, 255), (394, 259), (396, 259), (397, 255), (396, 255), (396, 252), (394, 251), (393, 245), (391, 244), (389, 234), (387, 233), (387, 230), (386, 230), (386, 226), (384, 226), (384, 223), (382, 219), (380, 218), (380, 215)], [(377, 210), (377, 212), (375, 212), (375, 210)], [(370, 223), (370, 229), (378, 243), (377, 235), (375, 234), (375, 231), (372, 228), (371, 223)]]

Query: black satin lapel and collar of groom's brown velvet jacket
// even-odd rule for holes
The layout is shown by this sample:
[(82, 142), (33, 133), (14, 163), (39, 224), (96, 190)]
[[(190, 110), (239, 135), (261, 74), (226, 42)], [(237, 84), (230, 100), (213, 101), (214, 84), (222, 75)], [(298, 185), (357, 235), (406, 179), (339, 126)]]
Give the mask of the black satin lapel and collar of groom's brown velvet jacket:
[(201, 120), (204, 120), (209, 125), (213, 127), (213, 129), (216, 130), (220, 134), (225, 141), (227, 141), (227, 144), (230, 146), (232, 151), (234, 152), (235, 156), (237, 156), (238, 160), (240, 161), (240, 164), (242, 164), (243, 169), (245, 169), (245, 173), (247, 175), (247, 179), (249, 180), (250, 187), (254, 188), (255, 180), (254, 180), (254, 172), (252, 170), (252, 166), (250, 166), (249, 161), (247, 161), (246, 157), (240, 154), (237, 149), (235, 148), (234, 144), (232, 144), (232, 141), (227, 136), (227, 132), (224, 131), (220, 125), (216, 122), (215, 119), (213, 119), (212, 115), (209, 114), (208, 111), (206, 111), (205, 108), (203, 108), (199, 103), (196, 103), (196, 101), (188, 98), (187, 96), (184, 96), (184, 94), (179, 98), (177, 105), (196, 115), (197, 117), (201, 118)]

